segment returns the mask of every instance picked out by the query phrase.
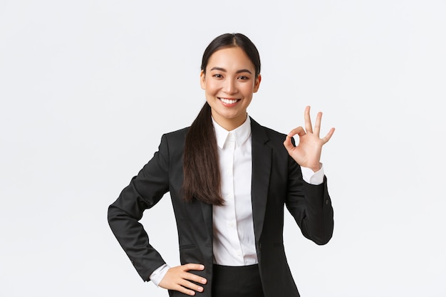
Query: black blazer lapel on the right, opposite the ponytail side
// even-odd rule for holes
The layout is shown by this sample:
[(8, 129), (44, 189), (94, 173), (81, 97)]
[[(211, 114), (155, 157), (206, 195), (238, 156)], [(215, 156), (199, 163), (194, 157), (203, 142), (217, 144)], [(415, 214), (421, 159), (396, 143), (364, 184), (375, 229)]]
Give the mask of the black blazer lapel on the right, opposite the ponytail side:
[(251, 203), (254, 234), (259, 242), (263, 229), (266, 199), (268, 198), (269, 174), (271, 174), (271, 147), (264, 128), (251, 118), (252, 181)]

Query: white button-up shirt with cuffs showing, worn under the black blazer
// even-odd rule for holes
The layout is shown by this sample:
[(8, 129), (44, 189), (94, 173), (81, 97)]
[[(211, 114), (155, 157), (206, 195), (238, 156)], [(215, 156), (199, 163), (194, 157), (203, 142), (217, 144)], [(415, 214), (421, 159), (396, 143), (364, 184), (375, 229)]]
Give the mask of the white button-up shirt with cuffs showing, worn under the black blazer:
[[(223, 206), (212, 207), (214, 264), (245, 266), (257, 263), (251, 205), (251, 120), (232, 131), (212, 119), (219, 152)], [(322, 184), (323, 167), (318, 172), (301, 167), (309, 184)], [(170, 266), (156, 269), (150, 280), (159, 286)]]

